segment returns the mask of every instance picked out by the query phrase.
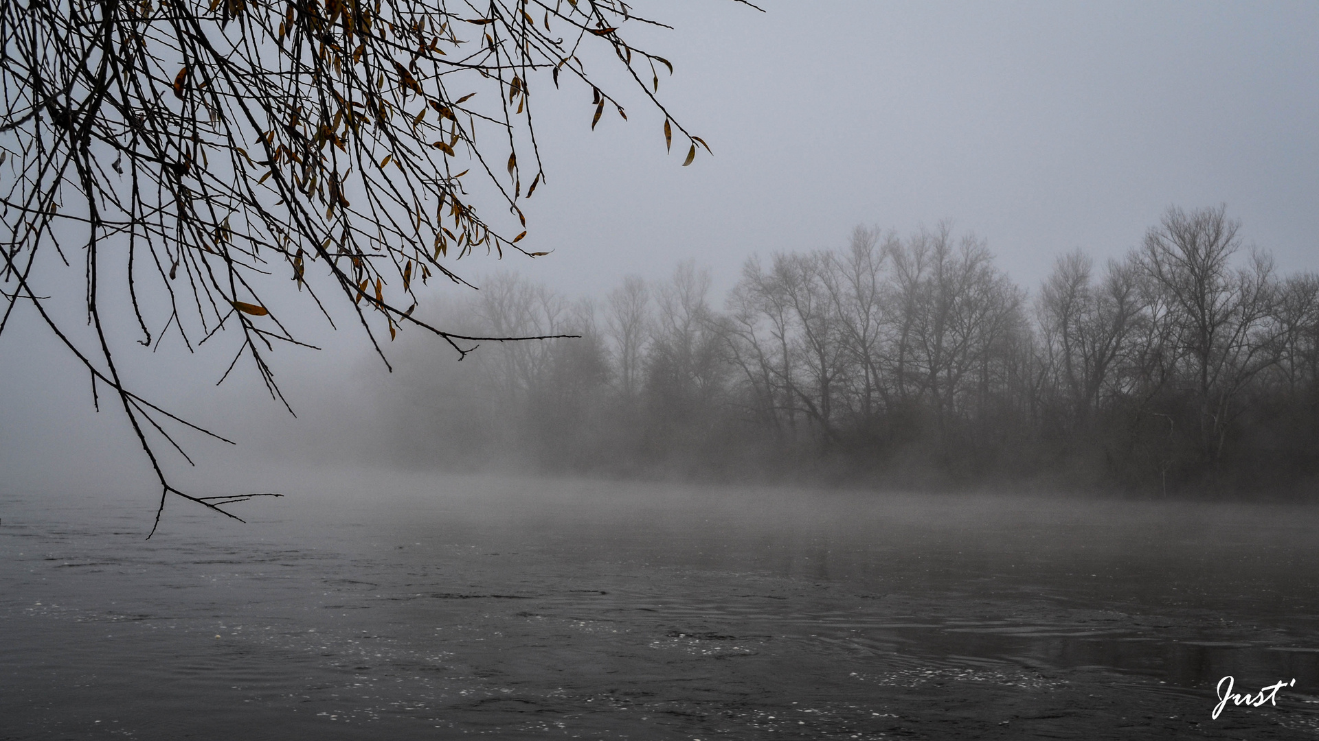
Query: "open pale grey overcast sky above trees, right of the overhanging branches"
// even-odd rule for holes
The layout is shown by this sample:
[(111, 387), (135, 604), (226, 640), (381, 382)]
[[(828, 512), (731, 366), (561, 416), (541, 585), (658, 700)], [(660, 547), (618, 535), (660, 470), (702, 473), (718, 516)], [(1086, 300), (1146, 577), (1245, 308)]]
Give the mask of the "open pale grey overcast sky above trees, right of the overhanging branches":
[(1319, 3), (657, 5), (661, 94), (715, 156), (681, 167), (640, 105), (592, 133), (588, 92), (549, 116), (542, 95), (529, 214), (555, 252), (510, 261), (529, 277), (603, 293), (694, 257), (727, 285), (753, 252), (950, 219), (1033, 287), (1219, 203), (1279, 268), (1319, 268)]

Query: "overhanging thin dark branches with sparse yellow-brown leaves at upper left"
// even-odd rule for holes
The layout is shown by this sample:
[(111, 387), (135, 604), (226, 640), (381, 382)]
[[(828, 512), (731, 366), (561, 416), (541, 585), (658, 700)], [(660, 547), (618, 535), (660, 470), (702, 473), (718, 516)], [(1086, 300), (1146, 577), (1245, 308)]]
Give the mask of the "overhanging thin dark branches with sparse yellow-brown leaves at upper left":
[[(243, 343), (230, 369), (249, 357), (281, 400), (262, 352), (301, 343), (278, 301), (262, 297), (290, 283), (269, 276), (307, 290), (331, 324), (322, 294), (350, 301), (377, 352), (383, 328), (393, 338), (406, 324), (459, 355), (472, 340), (516, 339), (455, 335), (413, 311), (418, 281), (463, 282), (451, 260), (543, 254), (524, 247), (520, 207), (545, 179), (533, 90), (584, 83), (592, 128), (607, 105), (627, 117), (582, 62), (603, 45), (663, 115), (666, 144), (674, 128), (686, 136), (686, 163), (704, 146), (656, 99), (658, 70), (671, 65), (624, 41), (629, 22), (654, 21), (621, 0), (4, 3), (0, 278), (9, 290), (0, 332), (16, 302), (36, 305), (94, 388), (123, 401), (162, 506), (170, 492), (212, 509), (231, 502), (166, 481), (144, 426), (173, 443), (162, 415), (182, 421), (120, 380), (99, 285), (111, 264), (127, 269), (144, 345), (173, 327), (191, 349), (236, 327)], [(503, 225), (464, 175), (499, 194)], [(484, 199), (480, 212), (474, 198)], [(33, 285), (49, 249), (66, 265), (83, 253), (92, 352), (57, 326)], [(309, 282), (314, 264), (328, 281)]]

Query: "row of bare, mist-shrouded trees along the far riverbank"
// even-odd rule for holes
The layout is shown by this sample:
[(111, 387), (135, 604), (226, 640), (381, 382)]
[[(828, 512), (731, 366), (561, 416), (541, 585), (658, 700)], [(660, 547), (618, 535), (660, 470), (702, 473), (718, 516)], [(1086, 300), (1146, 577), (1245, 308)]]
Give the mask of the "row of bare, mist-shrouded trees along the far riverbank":
[(721, 301), (690, 262), (599, 302), (500, 274), (445, 320), (580, 339), (405, 361), (441, 400), (390, 407), (421, 461), (1206, 496), (1319, 473), (1319, 277), (1278, 274), (1223, 207), (1029, 293), (972, 235), (857, 228), (752, 257)]

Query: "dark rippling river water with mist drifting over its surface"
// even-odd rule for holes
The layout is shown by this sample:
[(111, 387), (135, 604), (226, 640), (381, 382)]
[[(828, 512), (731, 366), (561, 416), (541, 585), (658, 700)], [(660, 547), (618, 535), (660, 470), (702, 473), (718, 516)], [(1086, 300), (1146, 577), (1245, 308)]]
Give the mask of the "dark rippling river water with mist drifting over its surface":
[[(1315, 738), (1319, 509), (326, 476), (0, 493), (0, 740)], [(1260, 692), (1262, 707), (1216, 686)]]

